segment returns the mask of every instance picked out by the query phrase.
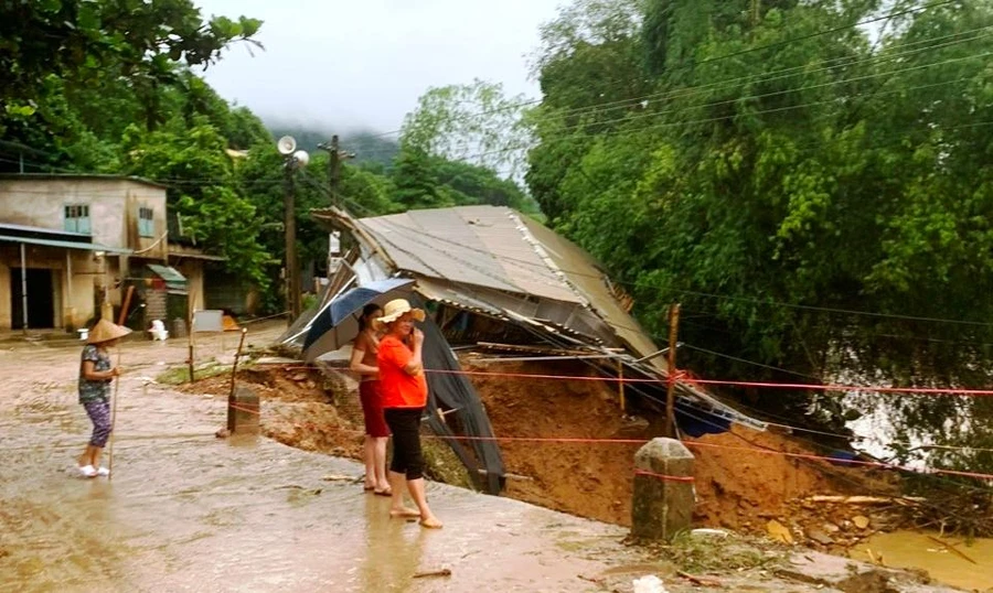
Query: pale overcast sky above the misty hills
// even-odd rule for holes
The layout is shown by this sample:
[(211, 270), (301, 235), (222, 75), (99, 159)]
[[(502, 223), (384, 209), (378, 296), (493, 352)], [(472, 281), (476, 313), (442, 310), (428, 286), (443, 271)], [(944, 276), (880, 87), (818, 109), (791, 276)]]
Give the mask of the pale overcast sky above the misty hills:
[(530, 56), (563, 0), (195, 0), (203, 15), (265, 21), (205, 73), (266, 119), (333, 131), (395, 130), (428, 87), (503, 83), (537, 96)]

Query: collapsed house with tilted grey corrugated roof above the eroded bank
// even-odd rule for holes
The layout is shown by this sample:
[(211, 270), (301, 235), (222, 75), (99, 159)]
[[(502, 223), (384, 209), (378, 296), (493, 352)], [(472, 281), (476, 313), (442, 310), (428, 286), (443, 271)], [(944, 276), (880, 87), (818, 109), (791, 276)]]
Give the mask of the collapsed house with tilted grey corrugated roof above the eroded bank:
[[(317, 314), (354, 285), (394, 277), (415, 281), (428, 312), (425, 367), (430, 373), (427, 420), (480, 485), (502, 488), (503, 465), (479, 397), (459, 374), (452, 347), (530, 357), (581, 359), (622, 382), (620, 410), (664, 411), (669, 369), (650, 335), (630, 314), (632, 300), (589, 254), (508, 207), (459, 206), (353, 218), (338, 208), (313, 211), (345, 252), (318, 304), (285, 335), (302, 344)], [(306, 352), (312, 362), (325, 353)], [(534, 358), (532, 358), (534, 359)], [(445, 373), (448, 371), (448, 373)], [(653, 381), (654, 380), (654, 381)], [(661, 403), (661, 406), (660, 406)], [(682, 433), (723, 432), (732, 422), (765, 430), (692, 384), (677, 384)], [(619, 413), (621, 413), (619, 411)], [(456, 436), (474, 438), (463, 446)]]

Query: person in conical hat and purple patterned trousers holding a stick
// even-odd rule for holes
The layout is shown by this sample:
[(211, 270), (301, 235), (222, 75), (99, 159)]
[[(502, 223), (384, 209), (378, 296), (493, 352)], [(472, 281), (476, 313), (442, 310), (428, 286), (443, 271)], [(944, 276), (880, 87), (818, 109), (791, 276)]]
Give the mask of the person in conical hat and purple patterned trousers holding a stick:
[(79, 403), (93, 421), (93, 435), (86, 451), (79, 455), (79, 474), (83, 477), (106, 476), (110, 472), (100, 467), (100, 454), (110, 438), (110, 384), (120, 369), (110, 364), (110, 352), (117, 342), (131, 333), (127, 327), (100, 320), (89, 331), (79, 364)]

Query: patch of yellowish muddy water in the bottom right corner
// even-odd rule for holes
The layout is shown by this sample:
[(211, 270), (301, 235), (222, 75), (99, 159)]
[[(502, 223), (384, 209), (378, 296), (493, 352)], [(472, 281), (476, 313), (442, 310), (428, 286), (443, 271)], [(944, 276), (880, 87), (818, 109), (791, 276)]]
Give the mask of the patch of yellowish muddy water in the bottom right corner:
[(929, 539), (938, 533), (896, 531), (873, 536), (852, 550), (852, 558), (871, 560), (882, 557), (887, 567), (922, 569), (932, 579), (968, 591), (993, 591), (993, 539), (967, 542), (962, 538), (943, 538), (975, 563)]

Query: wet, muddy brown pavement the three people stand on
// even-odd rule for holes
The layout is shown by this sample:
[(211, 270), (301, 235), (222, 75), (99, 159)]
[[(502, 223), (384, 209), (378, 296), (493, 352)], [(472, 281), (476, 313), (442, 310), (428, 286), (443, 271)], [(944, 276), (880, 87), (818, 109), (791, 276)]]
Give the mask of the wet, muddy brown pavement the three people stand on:
[[(248, 342), (281, 331), (253, 330)], [(201, 339), (196, 359), (235, 345)], [(180, 341), (125, 344), (114, 478), (76, 477), (90, 430), (76, 403), (81, 348), (0, 342), (0, 593), (629, 592), (632, 578), (653, 572), (616, 526), (430, 484), (445, 528), (426, 530), (341, 479), (361, 476), (355, 462), (265, 438), (216, 439), (226, 398), (150, 380), (183, 362)], [(658, 567), (672, 593), (711, 591)], [(451, 574), (415, 576), (441, 569)], [(714, 591), (832, 591), (764, 571), (723, 579)]]

